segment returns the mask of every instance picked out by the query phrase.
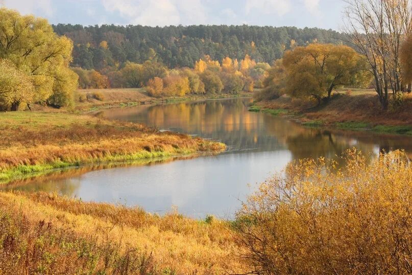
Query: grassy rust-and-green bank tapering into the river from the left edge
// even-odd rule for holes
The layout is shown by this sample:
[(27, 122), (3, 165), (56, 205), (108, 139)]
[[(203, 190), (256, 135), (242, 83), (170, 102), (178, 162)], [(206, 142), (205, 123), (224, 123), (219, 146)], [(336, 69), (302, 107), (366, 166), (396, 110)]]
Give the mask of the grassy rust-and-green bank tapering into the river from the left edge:
[(226, 146), (140, 124), (66, 112), (0, 113), (0, 181), (89, 163), (217, 153)]

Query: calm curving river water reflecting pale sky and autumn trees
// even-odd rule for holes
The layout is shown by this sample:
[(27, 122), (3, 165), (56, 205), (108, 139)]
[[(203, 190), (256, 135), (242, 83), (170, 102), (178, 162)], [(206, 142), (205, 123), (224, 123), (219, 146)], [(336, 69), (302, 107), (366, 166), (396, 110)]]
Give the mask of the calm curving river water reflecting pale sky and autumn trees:
[(8, 188), (140, 205), (150, 212), (177, 207), (192, 217), (228, 218), (256, 182), (281, 171), (293, 159), (335, 157), (351, 147), (372, 154), (397, 148), (412, 152), (410, 137), (305, 128), (284, 118), (249, 112), (250, 102), (209, 100), (102, 111), (98, 116), (218, 140), (228, 145), (228, 151), (156, 165), (71, 170)]

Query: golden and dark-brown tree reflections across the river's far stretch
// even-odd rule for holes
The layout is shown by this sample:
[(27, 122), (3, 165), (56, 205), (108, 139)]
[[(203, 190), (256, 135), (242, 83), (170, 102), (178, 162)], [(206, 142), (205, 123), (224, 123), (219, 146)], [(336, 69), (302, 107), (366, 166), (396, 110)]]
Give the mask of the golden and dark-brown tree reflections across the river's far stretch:
[(379, 147), (386, 151), (405, 148), (412, 152), (410, 137), (310, 129), (284, 118), (249, 112), (250, 102), (251, 99), (231, 99), (137, 106), (108, 110), (107, 114), (110, 118), (220, 140), (235, 149), (273, 151), (287, 148), (294, 158), (334, 157), (353, 146), (366, 153)]

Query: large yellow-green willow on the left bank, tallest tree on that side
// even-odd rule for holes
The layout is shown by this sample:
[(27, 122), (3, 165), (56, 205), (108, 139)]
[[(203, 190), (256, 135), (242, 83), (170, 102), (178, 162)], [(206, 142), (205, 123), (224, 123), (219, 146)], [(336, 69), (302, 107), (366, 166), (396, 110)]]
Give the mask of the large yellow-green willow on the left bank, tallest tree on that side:
[(68, 66), (73, 45), (65, 36), (59, 37), (46, 19), (20, 15), (17, 11), (0, 9), (0, 58), (8, 59), (17, 70), (26, 74), (34, 86), (33, 98), (23, 101), (64, 103), (77, 87), (77, 75)]

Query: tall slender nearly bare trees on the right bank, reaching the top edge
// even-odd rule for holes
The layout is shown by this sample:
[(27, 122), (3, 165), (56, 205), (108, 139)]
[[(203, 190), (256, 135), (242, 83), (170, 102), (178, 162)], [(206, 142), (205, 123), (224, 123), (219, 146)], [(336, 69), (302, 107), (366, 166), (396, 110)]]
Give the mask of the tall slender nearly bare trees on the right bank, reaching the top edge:
[(388, 92), (405, 90), (402, 83), (400, 49), (411, 32), (409, 0), (345, 0), (346, 33), (364, 55), (374, 76), (375, 90), (384, 109)]

